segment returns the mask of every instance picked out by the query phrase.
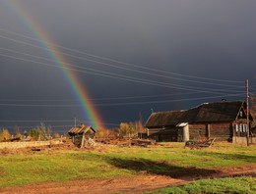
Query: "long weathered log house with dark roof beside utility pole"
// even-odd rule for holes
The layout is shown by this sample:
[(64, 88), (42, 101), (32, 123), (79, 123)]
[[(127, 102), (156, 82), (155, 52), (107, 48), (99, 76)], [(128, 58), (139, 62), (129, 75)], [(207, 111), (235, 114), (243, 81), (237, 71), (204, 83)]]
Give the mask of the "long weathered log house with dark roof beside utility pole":
[[(252, 117), (249, 118), (251, 122)], [(157, 141), (207, 140), (210, 138), (232, 141), (235, 137), (246, 138), (250, 128), (246, 124), (246, 103), (244, 101), (204, 103), (186, 111), (153, 113), (145, 126), (148, 129), (148, 135)]]

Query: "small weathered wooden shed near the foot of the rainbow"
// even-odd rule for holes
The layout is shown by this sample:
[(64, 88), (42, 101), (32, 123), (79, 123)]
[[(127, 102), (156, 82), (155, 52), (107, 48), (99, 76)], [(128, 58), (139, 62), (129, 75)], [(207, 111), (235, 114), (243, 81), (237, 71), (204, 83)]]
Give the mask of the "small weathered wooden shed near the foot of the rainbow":
[(92, 142), (96, 137), (96, 130), (92, 126), (86, 126), (81, 124), (80, 126), (74, 126), (68, 131), (69, 136), (72, 137), (72, 141), (80, 148), (85, 146), (85, 141)]

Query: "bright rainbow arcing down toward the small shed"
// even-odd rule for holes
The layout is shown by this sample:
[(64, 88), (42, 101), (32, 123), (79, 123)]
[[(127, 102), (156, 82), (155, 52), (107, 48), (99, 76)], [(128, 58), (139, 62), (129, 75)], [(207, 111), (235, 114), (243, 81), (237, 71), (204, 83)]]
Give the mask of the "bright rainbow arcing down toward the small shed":
[(47, 44), (47, 42), (53, 43), (47, 32), (29, 15), (29, 12), (19, 1), (5, 0), (5, 2), (6, 5), (14, 11), (17, 17), (30, 28), (33, 35), (40, 41), (41, 45), (46, 48), (45, 50), (47, 50), (49, 56), (60, 67), (70, 89), (82, 105), (84, 117), (90, 119), (90, 124), (96, 129), (103, 128), (103, 122), (93, 103), (90, 101), (89, 91), (87, 91), (85, 85), (78, 79), (76, 73), (68, 68), (69, 63), (67, 59), (65, 59), (60, 52), (56, 52), (57, 48), (53, 46), (54, 44)]

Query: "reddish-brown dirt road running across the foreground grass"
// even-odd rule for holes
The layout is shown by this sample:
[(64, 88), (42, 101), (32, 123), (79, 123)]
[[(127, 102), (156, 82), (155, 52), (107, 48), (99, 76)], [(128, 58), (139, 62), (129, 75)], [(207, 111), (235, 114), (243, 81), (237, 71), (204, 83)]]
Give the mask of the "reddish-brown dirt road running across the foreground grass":
[(99, 179), (99, 180), (70, 180), (67, 182), (47, 182), (41, 184), (23, 185), (14, 188), (1, 188), (0, 193), (26, 193), (26, 194), (59, 194), (59, 193), (140, 193), (143, 191), (150, 191), (166, 186), (176, 186), (187, 184), (196, 179), (214, 178), (214, 177), (228, 177), (238, 175), (252, 175), (256, 176), (256, 167), (243, 169), (221, 170), (215, 174), (186, 175), (183, 177), (172, 178), (162, 175), (139, 175), (135, 177)]

